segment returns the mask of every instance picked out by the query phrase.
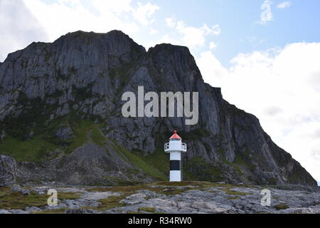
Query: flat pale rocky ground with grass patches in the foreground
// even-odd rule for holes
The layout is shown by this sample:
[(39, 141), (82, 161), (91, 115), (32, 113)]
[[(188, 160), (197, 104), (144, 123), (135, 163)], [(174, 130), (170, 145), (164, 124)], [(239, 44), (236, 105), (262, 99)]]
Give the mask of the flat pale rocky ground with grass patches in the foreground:
[[(58, 205), (49, 207), (49, 189)], [(262, 206), (261, 191), (271, 192)], [(18, 186), (0, 188), (0, 214), (22, 213), (320, 213), (320, 191), (302, 186), (156, 182), (124, 187)]]

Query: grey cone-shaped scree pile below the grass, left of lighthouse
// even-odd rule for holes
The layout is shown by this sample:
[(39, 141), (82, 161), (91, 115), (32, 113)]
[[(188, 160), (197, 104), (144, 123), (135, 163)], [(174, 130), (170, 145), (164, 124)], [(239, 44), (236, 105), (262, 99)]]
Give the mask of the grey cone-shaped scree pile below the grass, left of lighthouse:
[(18, 162), (21, 180), (65, 183), (68, 185), (117, 185), (152, 179), (122, 159), (113, 150), (92, 143), (78, 147), (70, 155), (39, 164)]

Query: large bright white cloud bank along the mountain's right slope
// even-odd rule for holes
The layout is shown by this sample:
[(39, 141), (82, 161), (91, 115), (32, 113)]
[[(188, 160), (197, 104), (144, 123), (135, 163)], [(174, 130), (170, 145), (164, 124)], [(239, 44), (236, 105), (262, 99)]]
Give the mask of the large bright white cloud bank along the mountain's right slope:
[(260, 119), (274, 142), (320, 180), (320, 43), (238, 54), (230, 68), (211, 51), (197, 59), (211, 86)]

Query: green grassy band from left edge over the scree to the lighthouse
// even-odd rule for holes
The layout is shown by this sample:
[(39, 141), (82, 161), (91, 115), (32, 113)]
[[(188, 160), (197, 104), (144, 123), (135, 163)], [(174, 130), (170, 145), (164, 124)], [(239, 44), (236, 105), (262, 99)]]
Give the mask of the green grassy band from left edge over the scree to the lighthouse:
[[(54, 135), (60, 123), (69, 123), (75, 137), (64, 142), (55, 138)], [(64, 119), (53, 121), (46, 128), (35, 129), (34, 132), (35, 136), (29, 140), (7, 136), (4, 141), (0, 142), (0, 154), (10, 155), (18, 161), (40, 162), (43, 159), (52, 158), (45, 155), (58, 148), (68, 155), (86, 142), (92, 142), (101, 147), (105, 147), (105, 143), (107, 143), (125, 160), (129, 160), (133, 165), (157, 180), (166, 180), (166, 173), (169, 172), (169, 162), (164, 152), (156, 152), (154, 155), (146, 157), (131, 152), (117, 141), (102, 135), (100, 125), (91, 120), (80, 120), (70, 115)], [(105, 149), (107, 151), (106, 147)]]

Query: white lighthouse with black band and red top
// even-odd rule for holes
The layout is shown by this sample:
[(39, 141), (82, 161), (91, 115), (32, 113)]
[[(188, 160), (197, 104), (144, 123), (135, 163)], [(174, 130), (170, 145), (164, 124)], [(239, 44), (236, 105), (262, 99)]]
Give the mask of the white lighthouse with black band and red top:
[(181, 152), (186, 152), (186, 143), (183, 143), (180, 136), (174, 131), (169, 142), (164, 144), (164, 152), (170, 153), (170, 181), (180, 182), (181, 176)]

